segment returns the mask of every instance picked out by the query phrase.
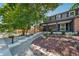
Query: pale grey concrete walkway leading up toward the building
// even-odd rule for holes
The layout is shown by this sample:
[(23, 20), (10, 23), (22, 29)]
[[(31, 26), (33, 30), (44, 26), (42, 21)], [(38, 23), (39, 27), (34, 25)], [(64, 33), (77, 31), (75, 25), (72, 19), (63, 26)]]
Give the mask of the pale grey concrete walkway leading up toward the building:
[(0, 55), (11, 56), (11, 55), (34, 55), (31, 50), (31, 43), (36, 38), (40, 37), (43, 33), (36, 33), (30, 37), (24, 37), (23, 39), (16, 39), (14, 44), (6, 43), (6, 39), (0, 39)]

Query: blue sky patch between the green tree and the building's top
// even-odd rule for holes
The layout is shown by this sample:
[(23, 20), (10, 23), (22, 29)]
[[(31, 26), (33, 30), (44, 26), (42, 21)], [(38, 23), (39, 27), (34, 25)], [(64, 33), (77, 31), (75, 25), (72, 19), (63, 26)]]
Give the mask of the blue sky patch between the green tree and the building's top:
[(63, 13), (63, 12), (69, 11), (70, 8), (73, 5), (74, 5), (73, 3), (64, 3), (64, 4), (61, 4), (54, 11), (49, 10), (46, 13), (46, 16), (50, 17), (50, 16), (54, 16), (54, 15), (59, 14), (59, 13)]

